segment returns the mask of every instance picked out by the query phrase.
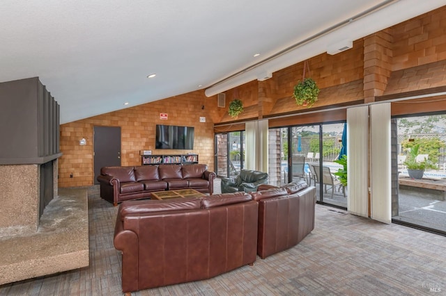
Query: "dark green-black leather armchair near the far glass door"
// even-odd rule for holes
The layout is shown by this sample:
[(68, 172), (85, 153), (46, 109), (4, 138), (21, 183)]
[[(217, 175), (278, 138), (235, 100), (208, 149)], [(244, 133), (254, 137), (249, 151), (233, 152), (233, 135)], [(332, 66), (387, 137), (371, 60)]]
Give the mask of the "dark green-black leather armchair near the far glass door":
[(268, 183), (268, 174), (254, 170), (241, 170), (235, 178), (222, 178), (222, 193), (254, 192), (261, 184)]

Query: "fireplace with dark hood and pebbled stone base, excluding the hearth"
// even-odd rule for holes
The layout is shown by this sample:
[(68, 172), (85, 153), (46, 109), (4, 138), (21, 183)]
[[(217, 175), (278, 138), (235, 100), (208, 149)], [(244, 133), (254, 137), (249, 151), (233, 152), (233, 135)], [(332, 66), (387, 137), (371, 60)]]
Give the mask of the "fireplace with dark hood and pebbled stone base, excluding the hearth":
[(0, 83), (0, 238), (36, 232), (57, 195), (59, 104), (38, 77)]

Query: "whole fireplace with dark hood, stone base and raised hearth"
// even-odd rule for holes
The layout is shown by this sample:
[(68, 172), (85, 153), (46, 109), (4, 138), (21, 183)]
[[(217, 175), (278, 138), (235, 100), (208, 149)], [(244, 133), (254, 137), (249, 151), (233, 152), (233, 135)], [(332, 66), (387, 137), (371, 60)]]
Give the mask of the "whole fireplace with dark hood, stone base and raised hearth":
[(88, 266), (86, 189), (58, 189), (59, 104), (38, 77), (0, 98), (0, 285)]

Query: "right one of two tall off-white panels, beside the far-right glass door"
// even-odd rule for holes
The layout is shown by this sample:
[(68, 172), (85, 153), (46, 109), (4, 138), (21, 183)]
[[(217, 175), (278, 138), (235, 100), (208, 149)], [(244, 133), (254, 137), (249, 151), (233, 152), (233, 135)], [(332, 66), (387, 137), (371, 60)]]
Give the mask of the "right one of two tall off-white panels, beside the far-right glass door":
[(370, 106), (371, 218), (392, 222), (390, 103)]

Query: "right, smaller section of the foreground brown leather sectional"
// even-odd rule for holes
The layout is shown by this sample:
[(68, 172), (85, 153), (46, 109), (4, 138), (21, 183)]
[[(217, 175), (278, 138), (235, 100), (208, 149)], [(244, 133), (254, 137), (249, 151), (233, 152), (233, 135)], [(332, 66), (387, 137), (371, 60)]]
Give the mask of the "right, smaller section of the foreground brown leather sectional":
[(250, 192), (259, 202), (257, 254), (264, 259), (297, 245), (314, 229), (316, 187), (305, 181), (282, 188), (261, 185)]

